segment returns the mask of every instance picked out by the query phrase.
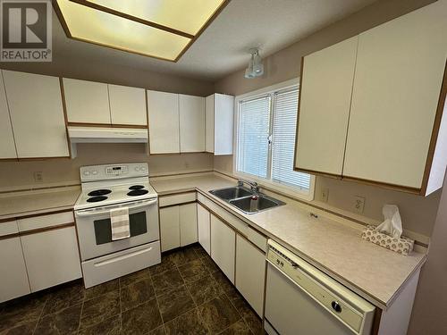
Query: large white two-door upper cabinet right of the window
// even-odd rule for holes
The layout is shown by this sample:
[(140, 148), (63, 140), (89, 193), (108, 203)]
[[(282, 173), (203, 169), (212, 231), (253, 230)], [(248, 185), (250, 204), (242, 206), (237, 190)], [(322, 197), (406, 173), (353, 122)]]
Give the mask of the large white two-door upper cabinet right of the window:
[(297, 170), (423, 196), (443, 186), (445, 13), (434, 2), (304, 57)]

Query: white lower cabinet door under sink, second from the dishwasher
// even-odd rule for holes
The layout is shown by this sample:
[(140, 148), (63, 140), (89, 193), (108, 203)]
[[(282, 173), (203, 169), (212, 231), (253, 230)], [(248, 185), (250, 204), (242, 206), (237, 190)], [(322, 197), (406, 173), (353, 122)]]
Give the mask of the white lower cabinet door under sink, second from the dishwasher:
[(234, 283), (236, 232), (211, 214), (211, 258)]

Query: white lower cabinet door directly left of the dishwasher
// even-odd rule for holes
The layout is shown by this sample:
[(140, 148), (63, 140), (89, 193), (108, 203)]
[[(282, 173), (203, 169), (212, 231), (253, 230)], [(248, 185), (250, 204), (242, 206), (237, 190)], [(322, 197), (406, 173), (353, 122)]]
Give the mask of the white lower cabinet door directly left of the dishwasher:
[(240, 235), (236, 237), (236, 288), (262, 318), (266, 255)]

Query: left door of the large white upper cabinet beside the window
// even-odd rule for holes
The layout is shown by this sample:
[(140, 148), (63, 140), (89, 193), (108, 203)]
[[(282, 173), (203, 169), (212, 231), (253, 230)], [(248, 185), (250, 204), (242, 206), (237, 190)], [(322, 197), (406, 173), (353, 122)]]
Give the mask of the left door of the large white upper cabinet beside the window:
[(358, 37), (304, 57), (295, 167), (342, 175)]

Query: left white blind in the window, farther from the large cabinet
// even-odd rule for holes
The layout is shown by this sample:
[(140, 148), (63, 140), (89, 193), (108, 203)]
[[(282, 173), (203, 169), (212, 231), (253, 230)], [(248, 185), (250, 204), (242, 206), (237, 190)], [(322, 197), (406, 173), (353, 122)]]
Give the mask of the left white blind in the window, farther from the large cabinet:
[(267, 177), (270, 96), (240, 102), (238, 171)]

